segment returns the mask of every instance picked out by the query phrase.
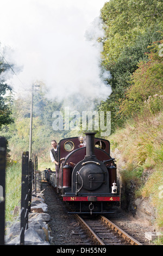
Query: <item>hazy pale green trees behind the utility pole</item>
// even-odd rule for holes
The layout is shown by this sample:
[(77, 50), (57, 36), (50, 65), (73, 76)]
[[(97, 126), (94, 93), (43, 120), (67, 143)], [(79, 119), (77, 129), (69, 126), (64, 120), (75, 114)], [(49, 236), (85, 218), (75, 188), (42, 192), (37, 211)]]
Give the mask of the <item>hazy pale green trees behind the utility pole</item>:
[[(52, 127), (53, 112), (60, 110), (61, 104), (48, 100), (45, 93), (46, 87), (40, 82), (39, 91), (34, 92), (32, 151), (39, 155), (41, 161), (51, 163), (51, 140), (59, 142), (63, 136), (61, 131), (54, 131)], [(3, 125), (1, 129), (1, 135), (8, 139), (10, 158), (18, 161), (23, 151), (29, 151), (30, 100), (30, 94), (13, 100), (11, 110), (15, 122)]]

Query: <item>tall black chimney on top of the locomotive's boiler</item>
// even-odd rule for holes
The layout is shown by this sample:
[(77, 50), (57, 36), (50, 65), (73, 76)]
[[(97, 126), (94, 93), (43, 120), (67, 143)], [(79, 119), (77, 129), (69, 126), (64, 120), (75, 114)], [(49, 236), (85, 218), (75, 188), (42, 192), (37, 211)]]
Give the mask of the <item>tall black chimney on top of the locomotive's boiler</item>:
[(96, 132), (86, 132), (86, 158), (96, 157), (95, 156), (95, 134)]

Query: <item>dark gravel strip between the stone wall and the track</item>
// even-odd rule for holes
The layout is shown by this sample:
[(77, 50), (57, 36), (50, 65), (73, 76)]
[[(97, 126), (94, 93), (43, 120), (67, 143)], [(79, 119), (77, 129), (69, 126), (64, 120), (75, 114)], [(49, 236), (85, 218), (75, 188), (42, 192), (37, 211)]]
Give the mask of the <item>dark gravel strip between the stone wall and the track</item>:
[[(48, 184), (42, 184), (45, 203), (48, 205), (47, 213), (51, 216), (48, 223), (52, 230), (52, 245), (79, 245), (85, 237), (74, 215), (67, 214), (66, 206)], [(86, 242), (85, 242), (86, 243)], [(87, 244), (90, 242), (87, 241)]]

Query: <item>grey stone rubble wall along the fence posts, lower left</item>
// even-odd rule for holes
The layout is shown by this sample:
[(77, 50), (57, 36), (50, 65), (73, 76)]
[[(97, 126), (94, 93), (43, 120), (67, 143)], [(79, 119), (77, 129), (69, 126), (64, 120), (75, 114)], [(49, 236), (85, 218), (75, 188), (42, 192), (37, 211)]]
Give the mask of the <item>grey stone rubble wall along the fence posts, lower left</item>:
[[(37, 193), (32, 196), (31, 212), (28, 215), (28, 229), (24, 233), (24, 245), (50, 245), (52, 238), (48, 222), (47, 205), (43, 198), (40, 172), (37, 171)], [(15, 207), (13, 214), (20, 212)], [(20, 245), (20, 214), (14, 223), (6, 223), (5, 245)]]

